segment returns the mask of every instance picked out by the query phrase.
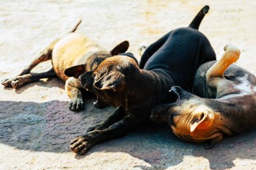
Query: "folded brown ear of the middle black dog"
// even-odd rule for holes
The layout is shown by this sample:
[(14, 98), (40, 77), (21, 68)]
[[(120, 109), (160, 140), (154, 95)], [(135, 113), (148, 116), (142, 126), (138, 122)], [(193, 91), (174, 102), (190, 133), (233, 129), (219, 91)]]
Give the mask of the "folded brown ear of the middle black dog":
[(111, 71), (105, 73), (98, 81), (94, 82), (94, 87), (100, 90), (111, 89), (117, 91), (117, 88), (121, 86), (125, 81), (125, 75), (119, 71)]

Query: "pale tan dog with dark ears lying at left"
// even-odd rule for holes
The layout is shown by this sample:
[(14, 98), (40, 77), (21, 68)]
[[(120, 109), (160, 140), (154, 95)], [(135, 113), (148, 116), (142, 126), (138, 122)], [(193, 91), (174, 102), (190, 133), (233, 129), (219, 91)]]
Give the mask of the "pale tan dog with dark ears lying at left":
[[(79, 75), (96, 69), (100, 62), (110, 56), (126, 52), (129, 48), (129, 42), (121, 42), (110, 51), (104, 50), (104, 48), (85, 35), (75, 33), (81, 22), (80, 20), (69, 34), (54, 40), (42, 50), (38, 57), (32, 60), (18, 76), (4, 79), (1, 82), (2, 85), (17, 89), (31, 81), (58, 76), (65, 81), (65, 90), (71, 99), (69, 109), (72, 111), (82, 110), (84, 108), (84, 101), (82, 99), (82, 87), (77, 79)], [(46, 60), (52, 60), (53, 68), (44, 73), (30, 73), (36, 65)], [(94, 103), (94, 105), (97, 105), (98, 108), (105, 106), (104, 103), (99, 102)]]

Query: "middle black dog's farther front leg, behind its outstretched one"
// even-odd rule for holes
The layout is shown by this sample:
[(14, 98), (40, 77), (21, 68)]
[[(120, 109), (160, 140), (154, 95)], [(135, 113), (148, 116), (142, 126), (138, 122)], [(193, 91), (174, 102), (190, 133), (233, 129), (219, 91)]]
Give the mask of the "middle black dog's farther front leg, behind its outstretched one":
[(125, 116), (125, 110), (123, 110), (123, 107), (119, 107), (113, 115), (109, 116), (104, 122), (101, 124), (96, 124), (95, 126), (92, 126), (88, 128), (86, 133), (91, 132), (92, 130), (103, 130), (105, 128), (108, 128), (110, 125), (115, 124), (115, 122), (118, 122)]

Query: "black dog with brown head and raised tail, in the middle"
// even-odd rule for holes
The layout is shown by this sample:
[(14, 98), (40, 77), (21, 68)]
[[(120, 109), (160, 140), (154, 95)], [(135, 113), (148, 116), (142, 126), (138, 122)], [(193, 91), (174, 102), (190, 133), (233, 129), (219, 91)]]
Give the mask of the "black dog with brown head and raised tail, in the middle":
[(210, 42), (198, 31), (208, 10), (208, 6), (203, 7), (189, 27), (172, 30), (151, 44), (139, 66), (133, 58), (113, 56), (95, 71), (79, 76), (82, 87), (119, 108), (101, 124), (88, 128), (84, 136), (71, 140), (73, 152), (84, 155), (94, 144), (124, 136), (148, 121), (151, 110), (164, 101), (164, 94), (173, 85), (190, 89), (199, 65), (216, 60)]

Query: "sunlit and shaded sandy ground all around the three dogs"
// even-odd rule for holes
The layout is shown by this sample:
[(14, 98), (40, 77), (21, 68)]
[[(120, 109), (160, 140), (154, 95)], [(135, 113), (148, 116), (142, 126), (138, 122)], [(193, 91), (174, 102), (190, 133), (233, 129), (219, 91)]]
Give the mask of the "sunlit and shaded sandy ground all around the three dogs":
[[(218, 57), (225, 44), (241, 48), (237, 64), (256, 74), (256, 1), (1, 1), (0, 77), (19, 73), (79, 19), (83, 32), (106, 49), (129, 40), (138, 56), (166, 32), (188, 26), (210, 5), (199, 30)], [(50, 67), (46, 62), (35, 71)], [(94, 146), (86, 155), (69, 151), (69, 140), (100, 122), (113, 108), (69, 111), (59, 79), (18, 90), (0, 87), (0, 169), (256, 169), (256, 128), (226, 138), (211, 150), (179, 140), (166, 127), (141, 126), (123, 138)]]

